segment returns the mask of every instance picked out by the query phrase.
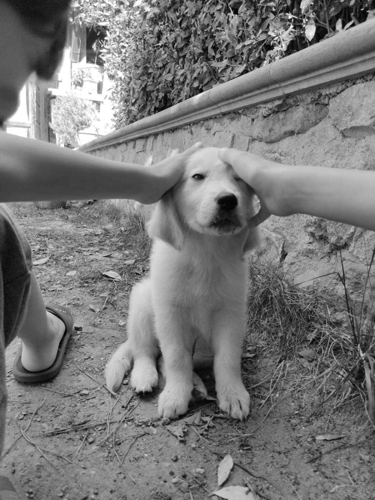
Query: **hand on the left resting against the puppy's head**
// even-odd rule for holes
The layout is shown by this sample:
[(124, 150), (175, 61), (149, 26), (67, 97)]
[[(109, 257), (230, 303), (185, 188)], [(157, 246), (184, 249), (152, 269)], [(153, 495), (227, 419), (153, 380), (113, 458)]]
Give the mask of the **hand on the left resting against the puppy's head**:
[(180, 179), (187, 158), (201, 147), (202, 143), (196, 142), (182, 153), (173, 151), (167, 158), (145, 167), (152, 179), (149, 180), (150, 188), (148, 192), (144, 192), (144, 198), (138, 201), (144, 204), (158, 201)]

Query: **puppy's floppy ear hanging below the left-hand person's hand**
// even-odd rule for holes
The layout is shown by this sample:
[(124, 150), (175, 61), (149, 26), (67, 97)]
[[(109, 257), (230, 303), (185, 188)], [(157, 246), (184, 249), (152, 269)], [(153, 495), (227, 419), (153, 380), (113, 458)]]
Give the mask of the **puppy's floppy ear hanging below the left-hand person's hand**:
[(182, 249), (185, 230), (175, 208), (173, 189), (169, 189), (156, 203), (147, 223), (147, 232), (151, 238), (159, 238), (176, 250)]

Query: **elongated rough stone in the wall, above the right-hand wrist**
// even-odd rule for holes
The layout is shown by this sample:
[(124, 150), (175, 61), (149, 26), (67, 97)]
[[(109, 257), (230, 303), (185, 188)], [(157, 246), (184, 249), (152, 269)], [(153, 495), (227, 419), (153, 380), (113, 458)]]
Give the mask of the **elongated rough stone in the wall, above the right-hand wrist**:
[(328, 114), (323, 104), (292, 106), (265, 118), (256, 118), (253, 136), (262, 142), (277, 142), (290, 135), (304, 133)]

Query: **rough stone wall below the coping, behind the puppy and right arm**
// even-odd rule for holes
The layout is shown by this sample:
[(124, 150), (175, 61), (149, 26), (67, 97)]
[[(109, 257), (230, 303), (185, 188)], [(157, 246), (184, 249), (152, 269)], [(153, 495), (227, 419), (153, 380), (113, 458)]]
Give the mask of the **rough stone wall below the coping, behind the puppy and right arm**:
[[(152, 163), (197, 140), (209, 146), (251, 150), (281, 163), (375, 169), (375, 75), (222, 114), (91, 154)], [(127, 208), (132, 206), (124, 203)], [(259, 255), (277, 262), (283, 244), (287, 252), (284, 267), (295, 283), (322, 281), (325, 286), (339, 288), (335, 273), (341, 268), (341, 250), (351, 286), (361, 286), (375, 245), (373, 233), (300, 214), (270, 217), (261, 227), (264, 241)], [(319, 278), (323, 274), (327, 276)]]

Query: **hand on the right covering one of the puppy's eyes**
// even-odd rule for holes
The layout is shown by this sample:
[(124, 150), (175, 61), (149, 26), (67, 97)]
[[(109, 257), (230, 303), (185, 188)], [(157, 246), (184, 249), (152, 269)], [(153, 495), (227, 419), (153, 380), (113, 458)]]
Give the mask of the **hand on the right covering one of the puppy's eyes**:
[(258, 225), (271, 214), (282, 216), (292, 213), (285, 202), (287, 196), (283, 196), (284, 183), (281, 182), (287, 166), (256, 154), (226, 147), (220, 149), (219, 158), (234, 168), (241, 179), (252, 187), (260, 201), (259, 211), (253, 216), (251, 223)]

